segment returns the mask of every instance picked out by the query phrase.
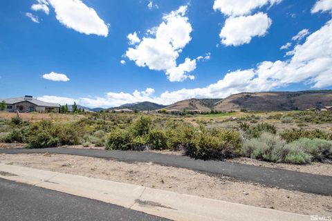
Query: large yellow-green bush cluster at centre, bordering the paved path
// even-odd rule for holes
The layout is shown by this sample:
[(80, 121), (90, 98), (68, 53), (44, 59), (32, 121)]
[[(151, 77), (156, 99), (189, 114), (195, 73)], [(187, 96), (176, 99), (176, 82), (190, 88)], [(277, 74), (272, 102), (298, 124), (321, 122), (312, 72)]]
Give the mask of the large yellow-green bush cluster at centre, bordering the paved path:
[(208, 130), (190, 124), (156, 128), (149, 117), (140, 117), (131, 128), (117, 129), (107, 137), (106, 148), (122, 151), (151, 149), (185, 150), (197, 159), (221, 159), (241, 153), (241, 135), (232, 130)]

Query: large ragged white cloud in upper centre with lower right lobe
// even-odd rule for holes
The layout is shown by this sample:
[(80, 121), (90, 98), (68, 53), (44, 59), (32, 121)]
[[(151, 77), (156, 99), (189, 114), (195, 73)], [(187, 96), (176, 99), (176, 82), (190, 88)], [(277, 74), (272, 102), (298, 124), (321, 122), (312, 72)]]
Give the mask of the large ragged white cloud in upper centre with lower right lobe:
[(152, 36), (143, 37), (140, 44), (134, 48), (128, 48), (126, 56), (131, 61), (135, 61), (137, 66), (165, 71), (169, 81), (194, 79), (188, 73), (196, 68), (195, 59), (187, 58), (183, 64), (178, 66), (176, 64), (179, 53), (192, 39), (190, 37), (192, 26), (185, 16), (186, 12), (187, 6), (181, 6), (178, 10), (164, 15), (163, 22), (147, 32)]

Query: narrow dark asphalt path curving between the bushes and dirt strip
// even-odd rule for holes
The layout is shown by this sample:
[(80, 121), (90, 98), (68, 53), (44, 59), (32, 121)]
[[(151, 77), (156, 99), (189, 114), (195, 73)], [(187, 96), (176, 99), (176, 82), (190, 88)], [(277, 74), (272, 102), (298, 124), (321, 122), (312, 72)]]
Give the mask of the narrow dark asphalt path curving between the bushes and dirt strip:
[(237, 180), (265, 184), (268, 186), (278, 186), (282, 189), (332, 195), (332, 176), (314, 175), (232, 162), (194, 160), (190, 157), (178, 155), (74, 148), (0, 149), (0, 153), (57, 153), (86, 157), (102, 157), (128, 162), (154, 162), (156, 164), (176, 166), (195, 171), (203, 171), (205, 173), (227, 175)]

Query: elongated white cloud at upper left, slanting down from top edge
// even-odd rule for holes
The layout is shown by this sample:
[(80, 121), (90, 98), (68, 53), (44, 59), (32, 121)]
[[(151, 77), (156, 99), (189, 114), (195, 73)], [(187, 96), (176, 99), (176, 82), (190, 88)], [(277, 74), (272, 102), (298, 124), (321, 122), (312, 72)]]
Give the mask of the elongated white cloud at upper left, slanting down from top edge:
[(86, 35), (107, 37), (109, 33), (107, 24), (100, 19), (97, 12), (80, 0), (37, 0), (31, 8), (43, 10), (48, 15), (48, 6), (54, 8), (56, 19), (67, 28)]

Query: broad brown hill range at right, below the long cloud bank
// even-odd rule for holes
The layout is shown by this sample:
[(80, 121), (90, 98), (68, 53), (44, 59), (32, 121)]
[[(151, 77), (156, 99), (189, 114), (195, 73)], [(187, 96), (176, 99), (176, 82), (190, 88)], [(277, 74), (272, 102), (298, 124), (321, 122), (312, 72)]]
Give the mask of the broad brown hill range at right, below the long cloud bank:
[(225, 99), (186, 99), (166, 110), (199, 111), (292, 111), (332, 106), (332, 90), (239, 93)]

